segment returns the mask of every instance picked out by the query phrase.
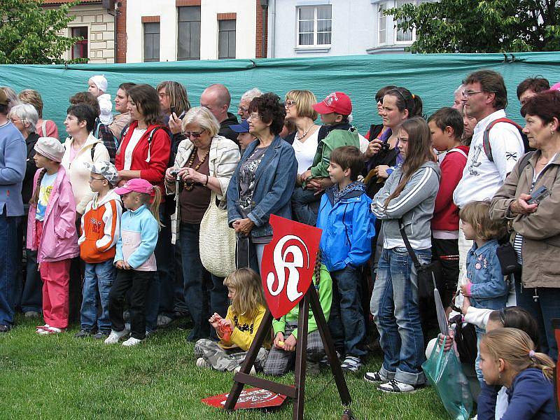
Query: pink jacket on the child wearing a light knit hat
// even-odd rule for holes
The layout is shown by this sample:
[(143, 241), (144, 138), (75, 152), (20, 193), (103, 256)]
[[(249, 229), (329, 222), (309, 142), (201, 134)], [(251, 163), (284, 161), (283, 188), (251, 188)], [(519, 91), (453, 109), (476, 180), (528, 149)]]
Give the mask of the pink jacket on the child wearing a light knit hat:
[[(34, 177), (34, 188), (43, 169), (38, 169)], [(78, 246), (78, 232), (76, 231), (76, 202), (72, 193), (72, 186), (66, 170), (59, 166), (57, 179), (52, 186), (52, 193), (45, 209), (43, 220), (43, 236), (41, 241), (35, 241), (35, 214), (37, 206), (29, 207), (27, 218), (27, 248), (37, 253), (37, 262), (62, 261), (80, 255)]]

